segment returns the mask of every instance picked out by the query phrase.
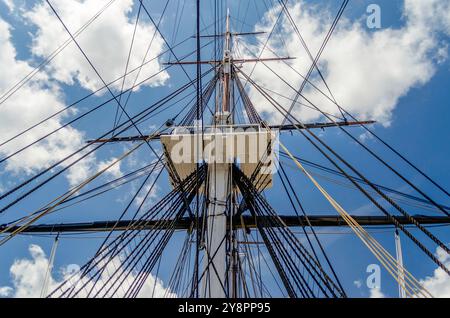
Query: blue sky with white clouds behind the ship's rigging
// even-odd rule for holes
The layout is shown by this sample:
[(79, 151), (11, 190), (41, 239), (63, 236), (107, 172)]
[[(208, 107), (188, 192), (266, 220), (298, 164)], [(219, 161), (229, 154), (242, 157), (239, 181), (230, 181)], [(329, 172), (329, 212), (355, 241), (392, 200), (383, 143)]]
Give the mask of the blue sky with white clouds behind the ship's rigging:
[[(269, 33), (280, 13), (280, 7), (275, 4), (277, 1), (227, 2), (232, 17), (231, 25), (237, 32), (256, 30)], [(0, 194), (84, 147), (86, 140), (97, 138), (110, 130), (117, 119), (116, 114), (121, 113), (117, 111), (114, 103), (106, 103), (111, 99), (111, 92), (119, 93), (123, 89), (130, 89), (132, 93), (129, 96), (124, 94), (120, 98), (127, 101), (126, 107), (130, 114), (136, 114), (189, 79), (195, 78), (195, 67), (168, 68), (164, 64), (184, 57), (195, 49), (195, 41), (189, 40), (195, 34), (194, 2), (148, 0), (144, 3), (148, 3), (146, 8), (153, 21), (142, 8), (139, 9), (139, 1), (54, 1), (55, 10), (95, 66), (94, 70), (79, 48), (70, 41), (68, 33), (45, 1), (0, 0)], [(328, 32), (339, 1), (299, 0), (288, 3), (292, 18), (314, 55)], [(372, 3), (381, 9), (381, 28), (369, 28), (366, 23), (367, 8)], [(163, 12), (164, 17), (161, 19)], [(210, 2), (205, 1), (202, 12), (203, 32), (212, 34)], [(136, 24), (137, 17), (139, 20)], [(155, 24), (162, 36), (156, 30)], [(133, 34), (133, 49), (130, 54)], [(380, 136), (413, 159), (447, 189), (450, 188), (450, 167), (446, 159), (450, 153), (447, 123), (447, 118), (450, 118), (449, 36), (449, 1), (354, 0), (350, 1), (319, 62), (339, 104), (358, 118), (376, 120), (374, 129)], [(233, 53), (242, 57), (259, 56), (266, 38), (267, 33), (257, 37), (240, 38), (234, 43)], [(184, 41), (185, 39), (188, 40)], [(177, 45), (178, 43), (181, 44)], [(167, 44), (177, 46), (170, 51)], [(205, 58), (213, 57), (213, 48), (207, 45), (207, 40), (202, 44), (205, 45)], [(279, 56), (296, 58), (289, 61), (288, 65), (282, 62), (270, 64), (282, 78), (287, 79), (289, 85), (262, 64), (255, 68), (246, 64), (243, 71), (252, 73), (252, 78), (257, 83), (271, 89), (276, 93), (274, 96), (277, 101), (289, 107), (287, 98), (294, 96), (292, 87), (298, 88), (301, 85), (302, 78), (298, 73), (307, 73), (310, 59), (286, 18), (282, 18), (277, 24), (262, 56), (273, 57), (273, 52)], [(195, 59), (195, 55), (187, 59)], [(35, 71), (36, 67), (47, 60), (48, 63)], [(145, 65), (138, 68), (143, 62)], [(124, 73), (129, 75), (122, 80)], [(30, 77), (30, 80), (21, 81), (26, 77)], [(313, 73), (311, 79), (320, 90), (326, 92), (326, 87), (317, 74)], [(110, 83), (110, 91), (102, 89), (104, 82)], [(280, 114), (255, 89), (249, 88), (248, 93), (255, 107), (267, 120), (282, 120)], [(187, 100), (192, 98), (192, 91), (187, 94), (191, 94), (186, 97)], [(90, 97), (72, 106), (86, 95)], [(340, 116), (336, 105), (311, 85), (305, 87), (304, 95), (323, 111)], [(102, 103), (104, 106), (71, 123), (73, 118)], [(144, 122), (140, 129), (146, 133), (153, 131), (182, 110), (186, 104), (177, 103), (161, 111)], [(15, 137), (24, 129), (55, 113), (57, 115), (26, 134)], [(324, 120), (317, 111), (308, 107), (296, 106), (293, 113), (305, 122)], [(126, 120), (125, 116), (119, 116), (119, 122)], [(23, 149), (55, 130), (55, 133), (32, 147)], [(364, 131), (355, 128), (352, 132), (438, 202), (449, 204), (448, 197), (443, 196), (398, 158), (393, 157), (375, 140), (364, 134)], [(137, 131), (130, 130), (127, 134), (136, 135)], [(321, 132), (321, 137), (332, 143), (352, 163), (361, 167), (371, 180), (408, 194), (415, 194), (337, 130)], [(285, 136), (285, 142), (294, 153), (303, 158), (324, 163), (311, 146), (298, 136)], [(67, 171), (2, 213), (0, 223), (7, 223), (32, 213), (70, 187), (109, 166), (129, 148), (130, 145), (115, 144), (92, 153), (89, 147), (83, 149), (59, 166), (67, 167)], [(11, 154), (15, 155), (9, 158)], [(83, 160), (71, 165), (82, 156)], [(4, 158), (7, 160), (2, 160)], [(140, 149), (106, 170), (97, 180), (97, 185), (119, 178), (154, 159), (155, 155), (148, 149)], [(297, 176), (295, 173), (298, 172), (289, 168), (289, 173)], [(296, 188), (302, 193), (308, 211), (333, 214), (331, 207), (320, 198), (307, 180), (303, 180), (300, 175), (298, 179)], [(342, 189), (332, 183), (328, 184), (326, 180), (323, 182), (348, 211), (355, 214), (376, 213), (375, 208), (354, 190)], [(33, 185), (35, 184), (30, 186)], [(167, 185), (167, 176), (163, 174), (148, 196), (146, 204), (150, 206), (158, 197), (167, 193)], [(46, 216), (40, 222), (112, 219), (120, 215), (138, 186), (139, 182), (127, 184), (87, 203)], [(147, 186), (142, 192), (148, 190)], [(349, 191), (351, 196), (348, 195)], [(2, 200), (1, 206), (5, 206), (13, 197)], [(139, 195), (135, 206), (138, 206), (143, 198), (142, 194)], [(289, 210), (281, 190), (270, 190), (268, 198), (277, 210)], [(435, 213), (409, 206), (408, 211), (412, 214)], [(450, 234), (446, 228), (432, 229), (432, 232), (444, 242), (450, 242)], [(389, 251), (394, 251), (392, 230), (384, 229), (375, 232), (374, 236), (384, 243)], [(180, 243), (182, 238), (181, 234), (177, 234), (174, 246), (177, 245), (177, 240)], [(366, 268), (369, 264), (376, 263), (376, 260), (355, 237), (345, 232), (323, 233), (321, 238), (329, 250), (330, 257), (336, 262), (336, 270), (345, 282), (344, 287), (349, 295), (397, 296), (394, 281), (384, 272), (381, 290), (367, 288)], [(421, 279), (432, 293), (450, 296), (448, 276), (442, 270), (436, 269), (406, 238), (402, 239), (406, 267)], [(93, 236), (85, 241), (90, 244), (83, 244), (79, 238), (61, 237), (52, 277), (49, 279), (50, 289), (67, 275), (68, 266), (84, 264), (95, 253), (101, 238)], [(0, 247), (0, 297), (41, 294), (52, 243), (51, 237), (19, 236)], [(448, 255), (428, 243), (427, 247), (432, 249), (442, 262), (450, 265)], [(348, 246), (352, 248), (349, 249)], [(166, 257), (168, 263), (173, 262), (175, 252), (169, 252)], [(161, 275), (162, 280), (157, 282), (157, 295), (164, 295), (166, 292), (164, 280), (169, 272), (170, 269), (166, 269)], [(154, 278), (151, 277), (147, 284), (142, 291), (146, 296), (151, 293)]]

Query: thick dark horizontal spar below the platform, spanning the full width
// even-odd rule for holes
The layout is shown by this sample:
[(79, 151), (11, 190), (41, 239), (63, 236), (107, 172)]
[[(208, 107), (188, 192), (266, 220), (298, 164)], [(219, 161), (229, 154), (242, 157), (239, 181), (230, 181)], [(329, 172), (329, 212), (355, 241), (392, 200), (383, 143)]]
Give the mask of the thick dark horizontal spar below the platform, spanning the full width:
[[(302, 224), (306, 225), (307, 220), (304, 216), (287, 216), (281, 215), (279, 218), (282, 220), (286, 226), (298, 227)], [(353, 218), (361, 226), (390, 226), (393, 225), (389, 218), (384, 216), (353, 216)], [(447, 216), (423, 216), (416, 215), (414, 218), (422, 225), (431, 224), (450, 224), (450, 217)], [(245, 224), (246, 228), (255, 228), (256, 224), (267, 224), (273, 220), (271, 217), (257, 217), (256, 219), (252, 216), (243, 216), (243, 222), (241, 219), (234, 220), (234, 228), (242, 228), (242, 223)], [(314, 227), (343, 227), (347, 226), (347, 223), (340, 216), (331, 215), (312, 215), (308, 216), (309, 222)], [(405, 217), (397, 217), (397, 220), (404, 225), (409, 225), (411, 222)], [(98, 221), (98, 222), (86, 222), (86, 223), (66, 223), (66, 224), (40, 224), (32, 225), (27, 229), (22, 231), (22, 233), (63, 233), (63, 232), (104, 232), (104, 231), (124, 231), (127, 229), (133, 230), (151, 230), (158, 224), (159, 229), (172, 228), (172, 221), (158, 221), (150, 220), (139, 226), (136, 223), (133, 225), (133, 221), (122, 220), (122, 221)], [(188, 230), (194, 228), (193, 222), (189, 218), (182, 218), (175, 222), (174, 228), (176, 230)], [(1, 225), (0, 231), (4, 231), (7, 225)], [(8, 228), (5, 233), (14, 232), (17, 227)]]

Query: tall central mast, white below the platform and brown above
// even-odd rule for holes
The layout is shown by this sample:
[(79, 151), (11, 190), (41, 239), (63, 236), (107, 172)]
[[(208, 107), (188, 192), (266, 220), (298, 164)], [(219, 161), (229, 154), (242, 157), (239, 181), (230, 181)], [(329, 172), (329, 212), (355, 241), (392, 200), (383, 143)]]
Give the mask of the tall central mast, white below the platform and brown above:
[[(230, 103), (230, 78), (231, 78), (231, 52), (230, 52), (230, 15), (227, 12), (226, 33), (225, 33), (225, 50), (222, 65), (222, 107), (214, 116), (215, 124), (226, 125), (232, 124), (232, 116), (229, 113)], [(203, 260), (205, 276), (202, 279), (203, 297), (207, 298), (225, 298), (227, 266), (226, 266), (226, 226), (227, 216), (226, 205), (227, 199), (231, 191), (230, 184), (230, 168), (231, 165), (228, 158), (222, 155), (223, 149), (218, 138), (214, 138), (216, 150), (216, 162), (211, 162), (208, 168), (209, 178), (209, 205), (206, 221), (206, 244), (205, 257)], [(217, 160), (222, 156), (224, 160)], [(219, 161), (219, 162), (217, 162)]]

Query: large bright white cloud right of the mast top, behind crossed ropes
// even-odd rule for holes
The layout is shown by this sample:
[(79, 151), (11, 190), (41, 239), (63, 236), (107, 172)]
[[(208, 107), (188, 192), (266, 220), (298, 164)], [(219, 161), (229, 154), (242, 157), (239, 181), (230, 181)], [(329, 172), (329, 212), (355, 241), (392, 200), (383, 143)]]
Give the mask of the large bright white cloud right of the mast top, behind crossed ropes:
[[(304, 1), (291, 5), (289, 11), (315, 55), (328, 32), (332, 13), (320, 5), (311, 6)], [(278, 12), (279, 7), (269, 11), (255, 29), (270, 31)], [(438, 34), (450, 34), (449, 12), (448, 1), (406, 0), (403, 9), (405, 25), (377, 31), (367, 30), (365, 20), (350, 22), (342, 18), (320, 60), (324, 77), (337, 101), (360, 118), (372, 118), (389, 125), (398, 100), (412, 88), (426, 84), (434, 75), (437, 62), (442, 62), (446, 57), (446, 45), (439, 41)], [(279, 55), (297, 57), (290, 63), (305, 75), (311, 64), (309, 57), (286, 19), (281, 23), (281, 28), (280, 32), (286, 35), (286, 48), (277, 36), (273, 37), (269, 47)], [(261, 42), (264, 43), (266, 37), (262, 35)], [(256, 55), (261, 47), (249, 46)], [(271, 56), (269, 51), (266, 52), (263, 57)], [(294, 88), (300, 87), (302, 79), (287, 66), (281, 62), (271, 62), (269, 65)], [(250, 64), (245, 66), (247, 73), (252, 67)], [(256, 67), (253, 78), (281, 94), (294, 96), (294, 92), (264, 65)], [(317, 75), (312, 79), (326, 92)], [(252, 89), (250, 94), (261, 111), (274, 112), (256, 90)], [(339, 115), (337, 107), (311, 86), (306, 86), (304, 94), (323, 111)], [(290, 106), (286, 101), (281, 104), (287, 108)], [(297, 105), (295, 109), (295, 115), (304, 121), (320, 117), (318, 112), (305, 107)], [(280, 118), (274, 119), (279, 121)]]

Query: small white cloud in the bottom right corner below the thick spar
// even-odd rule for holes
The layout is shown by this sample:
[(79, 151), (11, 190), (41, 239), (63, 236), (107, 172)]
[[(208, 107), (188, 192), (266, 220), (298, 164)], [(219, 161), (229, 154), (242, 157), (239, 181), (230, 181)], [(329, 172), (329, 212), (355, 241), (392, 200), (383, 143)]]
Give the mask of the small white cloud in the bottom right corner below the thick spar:
[[(450, 255), (438, 248), (436, 256), (447, 268), (450, 268)], [(450, 276), (440, 267), (436, 268), (432, 276), (421, 280), (420, 283), (433, 297), (450, 298)]]

